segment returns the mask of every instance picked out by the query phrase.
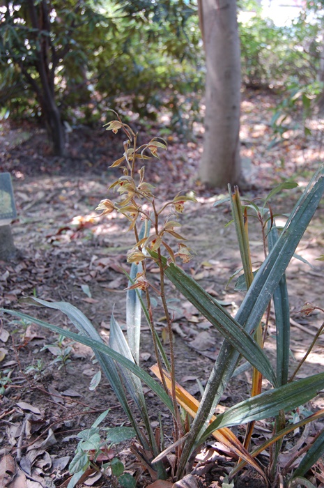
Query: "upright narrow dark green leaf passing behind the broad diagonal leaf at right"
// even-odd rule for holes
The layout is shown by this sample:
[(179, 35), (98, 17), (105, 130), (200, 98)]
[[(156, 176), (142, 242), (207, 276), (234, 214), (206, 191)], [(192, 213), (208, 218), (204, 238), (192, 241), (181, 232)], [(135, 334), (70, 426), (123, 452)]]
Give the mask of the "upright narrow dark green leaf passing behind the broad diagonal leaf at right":
[[(269, 251), (272, 250), (278, 240), (278, 231), (275, 225), (268, 234)], [(277, 340), (277, 380), (279, 386), (288, 381), (289, 351), (290, 351), (290, 310), (286, 284), (286, 276), (283, 275), (279, 285), (273, 293), (276, 318)]]

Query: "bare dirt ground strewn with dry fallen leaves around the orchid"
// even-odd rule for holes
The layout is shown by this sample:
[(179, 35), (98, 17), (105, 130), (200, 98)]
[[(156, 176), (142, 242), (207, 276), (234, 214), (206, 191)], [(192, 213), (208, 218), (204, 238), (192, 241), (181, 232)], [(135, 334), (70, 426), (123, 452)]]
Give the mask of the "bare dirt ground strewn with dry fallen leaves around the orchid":
[[(270, 189), (284, 179), (299, 183), (298, 188), (280, 192), (272, 200), (275, 213), (288, 213), (317, 169), (323, 154), (321, 121), (311, 121), (311, 137), (304, 140), (301, 130), (291, 130), (280, 144), (271, 146), (271, 108), (276, 99), (270, 93), (245, 93), (242, 102), (242, 158), (245, 171), (243, 197), (263, 198)], [(145, 128), (136, 121), (141, 142), (146, 142)], [(160, 127), (161, 128), (161, 127)], [(148, 132), (158, 135), (159, 126)], [(187, 205), (180, 216), (181, 234), (196, 253), (184, 265), (201, 286), (205, 287), (232, 314), (236, 313), (243, 294), (235, 291), (236, 280), (230, 277), (240, 269), (240, 256), (229, 206), (214, 207), (218, 199), (226, 197), (225, 190), (208, 190), (197, 179), (202, 151), (201, 126), (194, 126), (194, 137), (186, 142), (178, 135), (168, 137), (169, 151), (161, 154), (146, 171), (146, 179), (156, 185), (160, 201), (173, 198), (180, 190), (194, 190), (197, 203)], [(63, 300), (79, 307), (92, 321), (102, 337), (109, 337), (111, 312), (118, 322), (125, 323), (125, 287), (127, 279), (121, 266), (128, 270), (126, 252), (134, 244), (126, 233), (128, 223), (115, 213), (97, 218), (95, 206), (108, 197), (107, 188), (118, 177), (109, 165), (123, 153), (122, 138), (103, 129), (75, 128), (70, 135), (69, 156), (66, 160), (47, 153), (45, 135), (33, 131), (29, 125), (9, 128), (3, 123), (0, 135), (0, 171), (10, 171), (13, 178), (18, 218), (12, 224), (13, 238), (19, 252), (15, 259), (0, 261), (0, 306), (14, 308), (63, 327), (71, 327), (62, 314), (54, 310), (33, 307), (20, 301), (36, 296), (44, 300)], [(323, 158), (322, 158), (323, 160)], [(109, 195), (111, 197), (111, 195)], [(324, 307), (323, 202), (304, 234), (298, 254), (311, 266), (293, 259), (288, 267), (287, 280), (291, 307), (292, 367), (302, 358), (307, 347), (324, 321), (322, 312), (308, 317), (300, 310), (309, 301)], [(278, 218), (284, 222), (284, 218)], [(263, 245), (259, 222), (249, 218), (249, 237), (252, 260), (257, 266), (263, 260)], [(151, 273), (155, 282), (157, 275)], [(229, 283), (228, 283), (229, 282)], [(171, 285), (167, 296), (173, 303), (176, 350), (176, 376), (182, 386), (200, 398), (199, 383), (206, 384), (213, 360), (217, 357), (221, 338), (217, 331), (180, 296)], [(158, 333), (164, 338), (166, 323), (162, 310), (155, 310)], [(0, 334), (1, 385), (1, 455), (13, 456), (24, 468), (16, 476), (11, 488), (65, 487), (69, 479), (68, 464), (77, 445), (77, 433), (89, 427), (98, 415), (109, 409), (105, 426), (114, 427), (125, 422), (109, 384), (102, 378), (95, 390), (91, 379), (98, 372), (91, 350), (81, 344), (64, 340), (34, 323), (14, 320), (3, 315)], [(274, 315), (270, 313), (268, 340), (265, 344), (270, 358), (275, 360)], [(298, 377), (323, 372), (323, 336), (320, 336)], [(166, 348), (168, 348), (166, 344)], [(146, 323), (141, 335), (141, 365), (155, 363), (153, 347)], [(251, 372), (237, 376), (222, 397), (218, 411), (249, 396)], [(265, 383), (266, 386), (266, 383)], [(147, 392), (151, 422), (157, 427), (160, 406), (153, 394)], [(311, 402), (314, 409), (324, 408), (320, 392)], [(167, 411), (162, 416), (171, 424)], [(29, 430), (26, 430), (28, 422)], [(127, 425), (127, 424), (125, 424)], [(254, 443), (261, 443), (270, 432), (270, 424), (259, 422)], [(316, 430), (319, 427), (314, 427)], [(311, 432), (307, 434), (311, 435)], [(306, 439), (306, 437), (304, 438)], [(208, 444), (213, 462), (196, 461), (194, 475), (203, 487), (222, 486), (221, 477), (231, 466), (224, 452), (219, 454), (213, 443)], [(206, 452), (208, 451), (206, 447)], [(38, 452), (34, 452), (37, 449)], [(118, 448), (118, 456), (126, 468), (134, 473), (135, 464), (128, 445)], [(287, 445), (287, 451), (289, 446)], [(30, 451), (33, 457), (28, 456)], [(217, 462), (215, 456), (217, 453)], [(8, 458), (9, 459), (9, 458)], [(232, 464), (233, 465), (233, 464)], [(17, 464), (12, 468), (15, 472)], [(1, 471), (1, 470), (0, 470)], [(12, 473), (12, 474), (13, 474)], [(17, 480), (20, 478), (20, 485)], [(314, 477), (313, 477), (314, 478)], [(248, 481), (245, 481), (248, 480)], [(324, 486), (324, 480), (313, 480)], [(86, 484), (88, 483), (88, 484)], [(95, 478), (81, 486), (113, 486), (107, 478)], [(138, 486), (146, 486), (149, 479), (142, 476)], [(246, 484), (248, 483), (248, 484)], [(322, 483), (322, 484), (321, 484)], [(262, 486), (259, 478), (252, 480), (245, 472), (235, 487)]]

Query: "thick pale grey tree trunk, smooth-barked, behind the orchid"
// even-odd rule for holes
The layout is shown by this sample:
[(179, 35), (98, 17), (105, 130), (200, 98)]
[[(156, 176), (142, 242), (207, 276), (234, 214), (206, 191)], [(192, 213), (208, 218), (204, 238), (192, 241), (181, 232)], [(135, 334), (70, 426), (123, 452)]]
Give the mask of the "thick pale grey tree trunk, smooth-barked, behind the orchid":
[(210, 187), (240, 176), (240, 40), (235, 0), (201, 0), (206, 116), (200, 177)]

